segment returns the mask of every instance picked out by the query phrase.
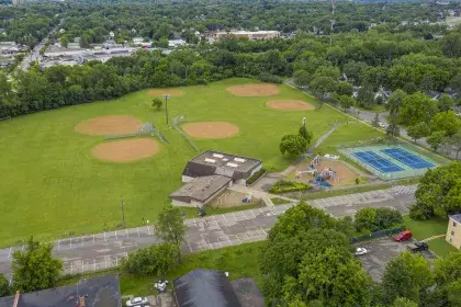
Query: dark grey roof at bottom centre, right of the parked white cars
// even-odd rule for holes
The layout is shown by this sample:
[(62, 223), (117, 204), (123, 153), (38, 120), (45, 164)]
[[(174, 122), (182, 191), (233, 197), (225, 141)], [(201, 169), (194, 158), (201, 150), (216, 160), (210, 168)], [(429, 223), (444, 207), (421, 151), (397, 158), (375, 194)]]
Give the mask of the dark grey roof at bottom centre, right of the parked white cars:
[(173, 281), (178, 307), (241, 307), (226, 274), (196, 269)]

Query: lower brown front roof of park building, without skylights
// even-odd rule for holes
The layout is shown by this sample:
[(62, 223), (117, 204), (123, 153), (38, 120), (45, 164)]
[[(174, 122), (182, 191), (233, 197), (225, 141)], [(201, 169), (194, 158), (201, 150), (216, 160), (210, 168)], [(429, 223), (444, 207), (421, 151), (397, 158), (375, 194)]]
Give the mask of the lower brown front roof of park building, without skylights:
[(216, 192), (232, 181), (224, 175), (198, 177), (185, 183), (182, 187), (170, 194), (171, 198), (190, 197), (198, 202), (206, 203)]

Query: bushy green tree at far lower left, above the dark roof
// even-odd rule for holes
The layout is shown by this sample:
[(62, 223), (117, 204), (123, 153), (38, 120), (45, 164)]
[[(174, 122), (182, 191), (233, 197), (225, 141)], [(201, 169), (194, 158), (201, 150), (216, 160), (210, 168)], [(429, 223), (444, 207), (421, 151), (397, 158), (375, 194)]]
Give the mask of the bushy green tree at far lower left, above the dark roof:
[(33, 238), (25, 251), (13, 253), (13, 288), (21, 292), (33, 292), (53, 287), (63, 271), (63, 261), (54, 259), (53, 245), (40, 243)]

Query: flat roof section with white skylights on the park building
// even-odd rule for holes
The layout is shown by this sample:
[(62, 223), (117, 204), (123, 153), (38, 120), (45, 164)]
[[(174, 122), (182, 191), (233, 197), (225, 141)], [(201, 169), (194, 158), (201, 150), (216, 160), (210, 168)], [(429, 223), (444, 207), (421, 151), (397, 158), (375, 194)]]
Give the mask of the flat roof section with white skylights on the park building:
[(261, 163), (261, 160), (259, 159), (214, 150), (206, 150), (190, 161), (198, 164), (210, 166), (214, 168), (225, 168), (238, 172), (247, 172)]

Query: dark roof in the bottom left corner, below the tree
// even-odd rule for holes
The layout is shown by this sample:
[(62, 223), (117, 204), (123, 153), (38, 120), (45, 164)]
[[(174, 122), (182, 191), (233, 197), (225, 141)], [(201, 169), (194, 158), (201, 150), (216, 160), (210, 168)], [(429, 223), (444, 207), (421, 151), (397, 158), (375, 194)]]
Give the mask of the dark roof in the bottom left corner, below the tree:
[[(21, 294), (19, 307), (76, 307), (85, 297), (87, 307), (122, 307), (117, 275), (80, 280), (78, 284)], [(11, 307), (14, 296), (0, 297), (0, 307)]]

